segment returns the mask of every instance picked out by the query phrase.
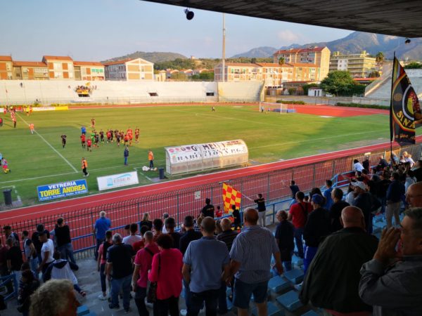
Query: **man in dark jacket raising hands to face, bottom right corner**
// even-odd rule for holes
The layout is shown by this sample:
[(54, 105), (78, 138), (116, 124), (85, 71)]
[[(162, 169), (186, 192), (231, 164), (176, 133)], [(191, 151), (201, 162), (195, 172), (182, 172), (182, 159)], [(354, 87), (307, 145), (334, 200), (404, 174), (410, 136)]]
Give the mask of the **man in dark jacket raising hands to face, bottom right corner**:
[(376, 253), (361, 270), (359, 296), (373, 306), (374, 316), (422, 315), (422, 209), (404, 214), (401, 229), (383, 231)]

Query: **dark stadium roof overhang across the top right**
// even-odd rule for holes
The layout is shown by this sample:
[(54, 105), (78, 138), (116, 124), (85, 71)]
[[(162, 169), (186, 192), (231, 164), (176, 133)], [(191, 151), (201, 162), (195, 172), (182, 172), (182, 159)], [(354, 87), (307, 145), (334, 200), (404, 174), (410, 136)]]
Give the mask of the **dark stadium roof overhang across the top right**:
[(354, 31), (422, 37), (420, 0), (146, 0)]

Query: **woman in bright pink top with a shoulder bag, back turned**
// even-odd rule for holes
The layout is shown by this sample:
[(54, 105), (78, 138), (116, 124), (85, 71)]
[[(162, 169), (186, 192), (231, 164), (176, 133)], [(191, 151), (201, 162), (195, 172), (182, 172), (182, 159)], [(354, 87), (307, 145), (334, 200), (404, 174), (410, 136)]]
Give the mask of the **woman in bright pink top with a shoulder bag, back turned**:
[(157, 282), (157, 300), (154, 308), (157, 316), (179, 316), (179, 296), (181, 292), (181, 268), (183, 256), (179, 249), (172, 249), (172, 237), (162, 234), (157, 239), (160, 249), (153, 257), (150, 282)]

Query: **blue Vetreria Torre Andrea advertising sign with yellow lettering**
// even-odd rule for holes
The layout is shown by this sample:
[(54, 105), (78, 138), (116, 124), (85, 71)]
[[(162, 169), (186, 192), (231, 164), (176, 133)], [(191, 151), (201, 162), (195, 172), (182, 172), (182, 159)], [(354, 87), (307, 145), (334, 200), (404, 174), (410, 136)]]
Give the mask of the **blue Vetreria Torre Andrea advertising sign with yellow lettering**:
[(72, 180), (51, 185), (39, 185), (37, 192), (39, 201), (47, 201), (49, 199), (88, 193), (88, 185), (87, 180)]

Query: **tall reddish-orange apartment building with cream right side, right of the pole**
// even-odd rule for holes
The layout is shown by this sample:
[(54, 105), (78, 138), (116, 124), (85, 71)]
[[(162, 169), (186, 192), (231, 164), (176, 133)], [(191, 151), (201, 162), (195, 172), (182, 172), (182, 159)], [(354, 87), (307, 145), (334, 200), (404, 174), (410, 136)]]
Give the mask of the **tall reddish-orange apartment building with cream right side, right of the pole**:
[(284, 58), (284, 62), (290, 65), (310, 64), (311, 67), (319, 68), (315, 80), (321, 81), (330, 70), (330, 54), (327, 47), (291, 48), (276, 51), (273, 58), (275, 63), (278, 63), (280, 58)]

